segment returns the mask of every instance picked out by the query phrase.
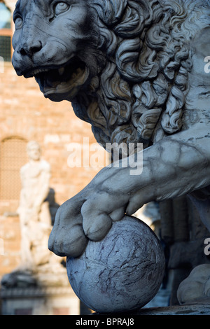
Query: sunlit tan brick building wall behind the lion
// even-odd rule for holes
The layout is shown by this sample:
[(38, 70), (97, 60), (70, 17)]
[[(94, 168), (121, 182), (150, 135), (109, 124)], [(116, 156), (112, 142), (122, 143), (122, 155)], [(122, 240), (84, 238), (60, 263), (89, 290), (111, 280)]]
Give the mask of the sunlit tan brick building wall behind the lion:
[[(15, 2), (0, 1), (0, 4), (13, 13)], [(12, 34), (13, 22), (10, 30)], [(1, 35), (5, 31), (0, 28), (0, 38)], [(51, 210), (55, 215), (58, 205), (76, 195), (99, 171), (88, 160), (89, 146), (96, 141), (90, 125), (76, 118), (71, 104), (45, 99), (34, 78), (18, 77), (11, 62), (1, 57), (0, 279), (20, 262), (20, 223), (15, 211), (20, 196), (20, 167), (28, 161), (26, 145), (31, 140), (41, 145), (43, 158), (51, 166)], [(73, 148), (78, 148), (82, 156), (77, 167), (69, 162)]]

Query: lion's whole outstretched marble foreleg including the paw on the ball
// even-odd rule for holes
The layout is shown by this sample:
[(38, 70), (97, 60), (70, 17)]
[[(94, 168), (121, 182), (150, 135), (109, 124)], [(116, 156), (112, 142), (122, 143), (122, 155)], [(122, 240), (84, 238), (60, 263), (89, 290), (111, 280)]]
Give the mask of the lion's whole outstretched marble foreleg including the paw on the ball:
[[(83, 191), (60, 207), (50, 250), (76, 257), (84, 251), (88, 239), (103, 239), (112, 222), (120, 221), (125, 214), (134, 214), (148, 202), (179, 197), (208, 186), (207, 134), (205, 129), (190, 129), (190, 136), (189, 131), (181, 132), (141, 151), (143, 170), (139, 175), (131, 174), (132, 166), (112, 164), (102, 169)], [(136, 158), (142, 159), (138, 155)]]

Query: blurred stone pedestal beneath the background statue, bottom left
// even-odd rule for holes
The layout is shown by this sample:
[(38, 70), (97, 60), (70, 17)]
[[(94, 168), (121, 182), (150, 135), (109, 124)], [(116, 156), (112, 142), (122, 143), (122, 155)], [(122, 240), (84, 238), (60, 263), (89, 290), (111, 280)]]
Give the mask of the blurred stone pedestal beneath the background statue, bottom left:
[(2, 315), (78, 315), (80, 302), (70, 287), (2, 288)]

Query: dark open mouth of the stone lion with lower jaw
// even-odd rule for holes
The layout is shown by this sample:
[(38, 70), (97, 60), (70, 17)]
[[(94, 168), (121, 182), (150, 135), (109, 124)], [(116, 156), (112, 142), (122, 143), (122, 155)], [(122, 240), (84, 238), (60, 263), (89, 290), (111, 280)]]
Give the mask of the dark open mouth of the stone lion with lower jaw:
[(34, 76), (41, 92), (54, 102), (71, 100), (89, 76), (84, 62), (71, 59), (71, 62), (59, 67), (39, 67), (27, 74)]

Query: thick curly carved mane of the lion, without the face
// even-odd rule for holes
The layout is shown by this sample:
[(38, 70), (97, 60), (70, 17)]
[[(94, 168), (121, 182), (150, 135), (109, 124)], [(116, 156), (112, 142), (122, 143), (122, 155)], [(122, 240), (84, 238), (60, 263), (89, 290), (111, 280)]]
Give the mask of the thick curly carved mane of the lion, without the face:
[(73, 109), (92, 125), (102, 146), (141, 142), (147, 147), (160, 138), (158, 129), (161, 134), (181, 130), (192, 67), (190, 25), (195, 31), (196, 22), (202, 24), (204, 2), (209, 0), (87, 1), (97, 11), (99, 48), (107, 62)]

